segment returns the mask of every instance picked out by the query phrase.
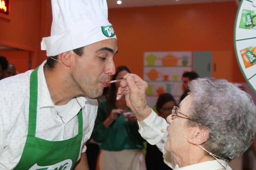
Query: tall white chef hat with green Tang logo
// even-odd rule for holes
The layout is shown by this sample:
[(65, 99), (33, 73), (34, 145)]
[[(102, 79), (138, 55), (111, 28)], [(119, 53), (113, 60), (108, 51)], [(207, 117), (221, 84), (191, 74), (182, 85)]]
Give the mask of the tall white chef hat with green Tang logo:
[(43, 38), (47, 56), (116, 38), (106, 0), (52, 0), (51, 36)]

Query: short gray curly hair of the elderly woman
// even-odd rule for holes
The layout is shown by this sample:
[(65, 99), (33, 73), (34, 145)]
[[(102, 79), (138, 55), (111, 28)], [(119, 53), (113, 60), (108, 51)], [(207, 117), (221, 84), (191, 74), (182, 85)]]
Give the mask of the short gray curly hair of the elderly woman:
[(189, 82), (189, 89), (189, 112), (195, 122), (188, 121), (188, 126), (209, 129), (205, 149), (228, 161), (245, 152), (256, 131), (256, 106), (251, 96), (223, 79), (198, 78)]

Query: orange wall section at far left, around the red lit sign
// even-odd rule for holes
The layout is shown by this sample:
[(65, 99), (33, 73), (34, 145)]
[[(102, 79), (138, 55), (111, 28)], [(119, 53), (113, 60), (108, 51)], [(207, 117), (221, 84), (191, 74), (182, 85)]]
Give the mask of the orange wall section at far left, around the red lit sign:
[[(9, 15), (0, 14), (0, 45), (32, 51), (32, 67), (35, 68), (41, 41), (41, 1), (11, 0), (9, 5)], [(27, 59), (20, 61), (27, 64)]]

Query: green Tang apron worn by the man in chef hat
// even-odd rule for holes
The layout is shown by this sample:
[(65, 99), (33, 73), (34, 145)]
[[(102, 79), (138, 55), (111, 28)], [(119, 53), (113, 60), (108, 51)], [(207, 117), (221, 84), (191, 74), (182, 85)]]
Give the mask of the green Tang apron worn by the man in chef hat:
[(35, 137), (37, 114), (37, 70), (30, 76), (28, 135), (21, 159), (15, 170), (70, 170), (80, 154), (83, 137), (82, 109), (78, 113), (78, 134), (63, 141)]

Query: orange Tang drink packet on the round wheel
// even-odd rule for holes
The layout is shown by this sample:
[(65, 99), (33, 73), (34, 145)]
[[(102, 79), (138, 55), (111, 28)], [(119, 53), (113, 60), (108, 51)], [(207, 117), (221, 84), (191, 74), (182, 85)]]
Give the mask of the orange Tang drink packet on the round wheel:
[(250, 46), (248, 48), (240, 50), (245, 68), (251, 67), (256, 64), (256, 46)]

